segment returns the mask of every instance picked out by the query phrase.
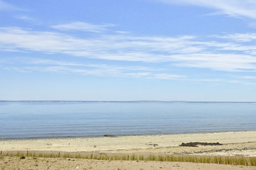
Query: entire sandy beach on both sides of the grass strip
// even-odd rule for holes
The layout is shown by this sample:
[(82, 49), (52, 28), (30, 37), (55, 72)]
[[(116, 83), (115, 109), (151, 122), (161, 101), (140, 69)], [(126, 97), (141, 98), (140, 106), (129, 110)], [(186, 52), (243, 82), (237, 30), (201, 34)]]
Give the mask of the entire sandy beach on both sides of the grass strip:
[[(198, 145), (198, 147), (182, 147), (188, 142), (219, 142), (223, 145)], [(199, 134), (162, 134), (142, 136), (110, 136), (100, 138), (49, 138), (0, 141), (0, 151), (68, 151), (88, 152), (98, 154), (168, 154), (168, 155), (224, 155), (224, 156), (250, 156), (256, 157), (256, 131), (236, 131)], [(6, 159), (6, 160), (5, 160)], [(17, 160), (16, 160), (17, 159)], [(47, 161), (46, 161), (47, 160)], [(74, 161), (73, 161), (74, 160)], [(19, 158), (3, 157), (0, 159), (2, 169), (12, 169), (18, 164), (46, 168), (63, 169), (255, 169), (255, 167), (195, 164), (186, 162), (132, 162), (132, 161), (99, 161), (67, 158)], [(6, 163), (7, 162), (7, 163)], [(30, 163), (29, 163), (30, 162)], [(50, 163), (51, 162), (51, 163)], [(28, 164), (28, 165), (26, 165)], [(176, 166), (177, 165), (177, 166)], [(62, 168), (58, 168), (58, 167)], [(212, 168), (213, 166), (213, 168)], [(12, 168), (8, 168), (12, 167)], [(20, 166), (22, 167), (22, 166)], [(54, 168), (55, 167), (55, 168)], [(97, 168), (98, 167), (98, 168)], [(154, 167), (154, 168), (152, 168)], [(194, 167), (194, 168), (192, 168)], [(16, 169), (16, 168), (13, 168)], [(29, 168), (20, 168), (29, 169)], [(31, 169), (36, 169), (31, 168)]]

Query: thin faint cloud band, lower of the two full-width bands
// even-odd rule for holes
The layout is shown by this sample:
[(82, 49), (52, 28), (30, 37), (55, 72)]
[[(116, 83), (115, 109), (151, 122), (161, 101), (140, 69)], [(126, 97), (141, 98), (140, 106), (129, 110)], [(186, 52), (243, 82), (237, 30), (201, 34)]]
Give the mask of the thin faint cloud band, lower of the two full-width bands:
[(84, 76), (111, 76), (153, 80), (199, 81), (216, 84), (238, 83), (249, 86), (256, 85), (256, 83), (254, 83), (256, 76), (248, 76), (246, 73), (244, 76), (234, 76), (231, 74), (224, 77), (222, 76), (214, 78), (213, 76), (203, 75), (203, 73), (202, 75), (171, 73), (171, 71), (167, 68), (163, 69), (157, 66), (123, 66), (122, 64), (113, 65), (106, 63), (74, 62), (65, 60), (41, 59), (40, 57), (11, 57), (8, 59), (1, 59), (0, 68), (4, 70), (16, 71), (19, 73), (64, 73)]

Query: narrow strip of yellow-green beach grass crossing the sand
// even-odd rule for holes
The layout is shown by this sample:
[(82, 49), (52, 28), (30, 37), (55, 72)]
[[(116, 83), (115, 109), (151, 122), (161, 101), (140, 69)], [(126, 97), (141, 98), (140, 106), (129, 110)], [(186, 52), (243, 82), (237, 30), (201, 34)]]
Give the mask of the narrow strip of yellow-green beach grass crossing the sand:
[(256, 157), (216, 156), (216, 155), (166, 155), (166, 154), (105, 154), (64, 151), (1, 151), (1, 156), (33, 158), (81, 158), (109, 161), (155, 161), (155, 162), (195, 162), (223, 165), (256, 166)]

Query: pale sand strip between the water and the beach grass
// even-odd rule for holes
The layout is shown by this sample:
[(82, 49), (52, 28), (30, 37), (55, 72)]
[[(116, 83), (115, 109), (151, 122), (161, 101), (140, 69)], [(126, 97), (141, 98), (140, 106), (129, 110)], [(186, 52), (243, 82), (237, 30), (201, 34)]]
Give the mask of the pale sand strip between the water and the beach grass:
[[(182, 142), (220, 142), (220, 146), (180, 147)], [(154, 146), (154, 144), (156, 144)], [(117, 138), (49, 138), (0, 141), (0, 151), (90, 151), (185, 155), (256, 156), (256, 131), (121, 136)]]

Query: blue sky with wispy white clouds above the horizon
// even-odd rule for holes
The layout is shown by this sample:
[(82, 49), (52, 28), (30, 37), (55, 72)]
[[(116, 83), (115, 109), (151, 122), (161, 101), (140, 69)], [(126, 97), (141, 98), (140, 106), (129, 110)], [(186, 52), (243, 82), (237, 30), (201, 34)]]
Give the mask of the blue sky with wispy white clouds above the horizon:
[(0, 100), (256, 101), (256, 1), (0, 0)]

